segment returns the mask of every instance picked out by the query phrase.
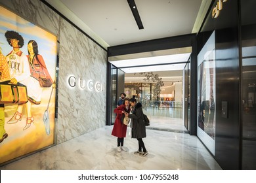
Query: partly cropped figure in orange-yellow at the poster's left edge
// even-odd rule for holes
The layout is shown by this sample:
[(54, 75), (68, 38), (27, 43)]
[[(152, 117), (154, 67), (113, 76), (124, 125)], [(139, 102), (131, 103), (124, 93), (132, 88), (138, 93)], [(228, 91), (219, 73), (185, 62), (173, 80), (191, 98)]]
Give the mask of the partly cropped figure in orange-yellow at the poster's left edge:
[[(0, 48), (0, 82), (10, 79), (9, 66), (7, 64), (7, 59), (1, 52)], [(0, 104), (0, 143), (3, 142), (8, 137), (5, 131), (5, 106)]]

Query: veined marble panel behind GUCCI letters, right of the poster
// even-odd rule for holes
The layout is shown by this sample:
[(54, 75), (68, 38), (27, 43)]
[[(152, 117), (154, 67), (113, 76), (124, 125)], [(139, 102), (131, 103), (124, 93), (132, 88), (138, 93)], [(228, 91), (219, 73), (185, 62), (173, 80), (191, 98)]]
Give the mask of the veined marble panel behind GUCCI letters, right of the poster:
[[(71, 75), (76, 78), (74, 88), (68, 86)], [(79, 78), (85, 82), (83, 90)], [(103, 84), (103, 92), (90, 91), (89, 80)], [(106, 124), (106, 51), (66, 20), (60, 20), (58, 82), (58, 143)]]

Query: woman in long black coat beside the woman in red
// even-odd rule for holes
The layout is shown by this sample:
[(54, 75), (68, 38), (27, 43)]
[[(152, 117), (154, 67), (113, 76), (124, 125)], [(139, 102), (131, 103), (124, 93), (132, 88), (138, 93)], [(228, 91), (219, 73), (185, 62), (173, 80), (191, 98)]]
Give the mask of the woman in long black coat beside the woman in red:
[[(129, 99), (131, 107), (131, 114), (126, 113), (128, 118), (131, 118), (131, 138), (135, 138), (139, 142), (139, 150), (135, 154), (140, 154), (140, 156), (146, 156), (148, 151), (145, 148), (142, 138), (146, 137), (146, 126), (144, 124), (143, 111), (141, 103), (137, 103), (135, 98)], [(143, 152), (142, 152), (143, 150)]]

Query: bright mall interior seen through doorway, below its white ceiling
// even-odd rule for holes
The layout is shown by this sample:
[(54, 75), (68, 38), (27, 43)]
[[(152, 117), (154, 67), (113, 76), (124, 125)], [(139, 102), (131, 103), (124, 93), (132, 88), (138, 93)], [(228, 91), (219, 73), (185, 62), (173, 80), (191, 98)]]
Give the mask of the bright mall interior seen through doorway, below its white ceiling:
[(142, 103), (150, 129), (187, 132), (184, 122), (184, 71), (125, 73), (124, 93)]

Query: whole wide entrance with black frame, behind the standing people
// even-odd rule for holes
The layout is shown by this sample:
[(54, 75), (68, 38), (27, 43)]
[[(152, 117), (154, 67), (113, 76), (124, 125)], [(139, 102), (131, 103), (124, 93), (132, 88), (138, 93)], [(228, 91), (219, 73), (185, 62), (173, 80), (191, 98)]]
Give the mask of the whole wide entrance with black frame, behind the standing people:
[[(138, 46), (141, 50), (148, 49), (146, 44)], [(192, 46), (149, 52), (136, 50), (135, 54), (128, 47), (109, 49), (107, 95), (111, 97), (107, 99), (106, 124), (114, 124), (114, 108), (120, 94), (125, 93), (127, 97), (135, 95), (142, 103), (144, 113), (150, 118), (148, 128), (191, 134), (190, 128), (194, 127), (189, 115)]]

